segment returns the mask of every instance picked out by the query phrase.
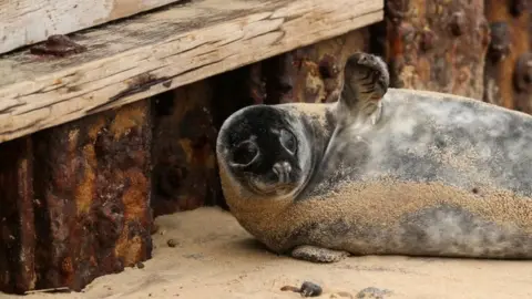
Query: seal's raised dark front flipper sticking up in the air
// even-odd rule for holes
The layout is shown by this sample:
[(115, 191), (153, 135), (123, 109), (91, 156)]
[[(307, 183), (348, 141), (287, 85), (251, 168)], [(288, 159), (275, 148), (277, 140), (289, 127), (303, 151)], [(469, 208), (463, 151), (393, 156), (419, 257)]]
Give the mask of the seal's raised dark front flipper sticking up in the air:
[(350, 115), (341, 118), (355, 121), (372, 116), (375, 123), (389, 84), (390, 74), (382, 59), (365, 52), (349, 56), (344, 68), (339, 113)]

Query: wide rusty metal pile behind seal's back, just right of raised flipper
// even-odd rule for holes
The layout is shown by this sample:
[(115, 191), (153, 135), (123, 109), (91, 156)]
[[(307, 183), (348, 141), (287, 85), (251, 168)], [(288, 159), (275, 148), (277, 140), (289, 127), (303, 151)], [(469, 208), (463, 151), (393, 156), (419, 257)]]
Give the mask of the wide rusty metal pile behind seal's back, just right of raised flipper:
[(484, 1), (387, 0), (382, 53), (391, 85), (482, 99)]

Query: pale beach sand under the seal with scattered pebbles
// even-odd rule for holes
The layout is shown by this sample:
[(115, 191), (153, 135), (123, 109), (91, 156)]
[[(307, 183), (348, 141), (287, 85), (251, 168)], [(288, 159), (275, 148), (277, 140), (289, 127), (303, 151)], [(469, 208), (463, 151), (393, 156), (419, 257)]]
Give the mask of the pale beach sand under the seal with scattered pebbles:
[(532, 261), (367, 256), (311, 264), (270, 254), (218, 208), (156, 224), (153, 259), (144, 268), (100, 277), (83, 292), (24, 298), (301, 298), (280, 288), (305, 280), (323, 287), (317, 298), (356, 298), (367, 287), (389, 290), (385, 298), (532, 298)]

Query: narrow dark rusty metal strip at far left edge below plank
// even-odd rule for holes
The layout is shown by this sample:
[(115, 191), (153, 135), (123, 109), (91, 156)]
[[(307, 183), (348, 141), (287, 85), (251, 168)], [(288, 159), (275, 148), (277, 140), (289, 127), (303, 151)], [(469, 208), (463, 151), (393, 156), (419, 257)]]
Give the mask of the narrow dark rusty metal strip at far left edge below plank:
[(35, 285), (31, 138), (0, 146), (0, 291)]

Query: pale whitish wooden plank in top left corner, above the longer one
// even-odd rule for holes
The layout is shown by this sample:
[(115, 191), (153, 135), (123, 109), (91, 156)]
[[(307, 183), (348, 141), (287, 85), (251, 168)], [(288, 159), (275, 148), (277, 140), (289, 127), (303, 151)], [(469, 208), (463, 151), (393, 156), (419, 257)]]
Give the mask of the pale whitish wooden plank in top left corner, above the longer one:
[(0, 1), (0, 53), (182, 0)]

